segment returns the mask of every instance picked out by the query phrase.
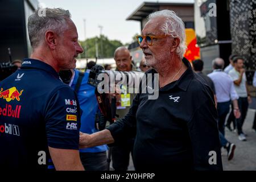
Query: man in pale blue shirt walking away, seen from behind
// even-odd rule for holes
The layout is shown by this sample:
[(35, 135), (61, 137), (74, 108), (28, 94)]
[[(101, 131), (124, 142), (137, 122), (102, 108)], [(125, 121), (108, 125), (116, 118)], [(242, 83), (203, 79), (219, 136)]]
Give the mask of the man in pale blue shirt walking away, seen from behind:
[(232, 79), (223, 71), (224, 60), (221, 58), (216, 58), (212, 61), (213, 72), (208, 75), (213, 81), (216, 91), (217, 98), (217, 110), (218, 110), (218, 129), (220, 130), (220, 140), (221, 146), (226, 148), (228, 151), (228, 160), (231, 160), (234, 156), (234, 150), (236, 148), (235, 144), (230, 143), (225, 135), (225, 118), (229, 113), (230, 100), (232, 100), (234, 105), (234, 115), (236, 118), (240, 117), (240, 111), (238, 109), (238, 95), (234, 89), (234, 84)]

